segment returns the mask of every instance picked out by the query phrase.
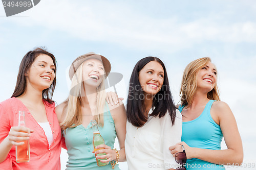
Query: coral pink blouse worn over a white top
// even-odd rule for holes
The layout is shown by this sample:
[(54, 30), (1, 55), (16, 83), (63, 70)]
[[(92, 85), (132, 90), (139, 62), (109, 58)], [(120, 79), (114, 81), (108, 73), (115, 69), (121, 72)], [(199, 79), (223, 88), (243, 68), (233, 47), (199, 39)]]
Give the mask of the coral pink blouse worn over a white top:
[(11, 98), (0, 103), (0, 142), (8, 135), (11, 127), (18, 126), (18, 111), (25, 111), (26, 127), (34, 130), (30, 136), (30, 161), (16, 163), (15, 146), (11, 148), (6, 160), (0, 163), (0, 169), (49, 170), (60, 169), (61, 130), (55, 104), (44, 101), (47, 118), (53, 134), (53, 142), (49, 145), (44, 130), (38, 125), (28, 108), (18, 99)]

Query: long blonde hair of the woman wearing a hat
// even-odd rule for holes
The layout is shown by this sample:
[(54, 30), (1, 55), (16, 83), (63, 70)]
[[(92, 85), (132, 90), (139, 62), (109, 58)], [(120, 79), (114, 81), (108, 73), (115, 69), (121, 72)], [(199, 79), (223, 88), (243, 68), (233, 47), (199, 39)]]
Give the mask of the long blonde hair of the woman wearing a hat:
[[(69, 98), (64, 102), (66, 106), (63, 111), (66, 111), (66, 116), (63, 122), (60, 124), (62, 130), (67, 128), (74, 128), (82, 124), (82, 96), (85, 95), (85, 90), (82, 82), (82, 66), (83, 63), (77, 68), (75, 75), (71, 80), (72, 91), (69, 94)], [(104, 107), (105, 107), (105, 80), (102, 79), (101, 84), (97, 87), (97, 99), (96, 99), (96, 114), (94, 120), (101, 127), (104, 126)]]

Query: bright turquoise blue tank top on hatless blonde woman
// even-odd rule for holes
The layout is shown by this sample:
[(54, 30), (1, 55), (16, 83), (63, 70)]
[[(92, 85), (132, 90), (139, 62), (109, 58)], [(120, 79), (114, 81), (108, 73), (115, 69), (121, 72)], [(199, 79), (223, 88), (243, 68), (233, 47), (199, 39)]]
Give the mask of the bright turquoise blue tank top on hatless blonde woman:
[[(210, 115), (210, 108), (214, 100), (210, 100), (199, 117), (182, 123), (181, 141), (186, 142), (189, 147), (220, 150), (222, 141), (221, 128)], [(179, 107), (182, 112), (184, 106)], [(186, 162), (186, 169), (225, 169), (223, 165), (206, 162), (192, 158)]]

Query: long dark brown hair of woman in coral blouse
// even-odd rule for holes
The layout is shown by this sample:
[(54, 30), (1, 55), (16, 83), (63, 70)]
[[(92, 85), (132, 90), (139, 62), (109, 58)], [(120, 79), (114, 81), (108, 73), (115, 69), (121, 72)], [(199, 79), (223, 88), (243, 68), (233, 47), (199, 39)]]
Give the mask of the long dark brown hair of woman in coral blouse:
[(52, 58), (53, 64), (55, 66), (54, 73), (55, 73), (55, 78), (51, 84), (51, 86), (47, 89), (42, 90), (42, 99), (46, 100), (49, 103), (53, 103), (52, 101), (52, 96), (53, 96), (53, 91), (56, 86), (56, 69), (57, 69), (57, 61), (54, 57), (53, 54), (49, 53), (48, 51), (44, 50), (43, 48), (35, 48), (33, 51), (29, 51), (22, 59), (22, 62), (20, 62), (19, 65), (19, 70), (18, 70), (18, 76), (17, 76), (17, 82), (16, 86), (14, 89), (14, 92), (11, 96), (13, 97), (18, 97), (22, 95), (23, 93), (26, 92), (26, 86), (27, 86), (27, 81), (26, 81), (26, 72), (34, 62), (35, 58), (39, 56), (40, 54), (46, 54), (49, 57)]

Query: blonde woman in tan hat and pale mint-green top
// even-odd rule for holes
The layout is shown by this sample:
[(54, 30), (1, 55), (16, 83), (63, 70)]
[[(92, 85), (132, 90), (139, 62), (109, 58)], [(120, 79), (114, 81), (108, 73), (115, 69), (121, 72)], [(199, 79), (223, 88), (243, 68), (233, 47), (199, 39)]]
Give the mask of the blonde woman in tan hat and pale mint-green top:
[[(79, 56), (71, 64), (69, 76), (71, 90), (69, 98), (58, 105), (55, 112), (65, 137), (69, 154), (68, 170), (75, 169), (119, 169), (117, 161), (126, 161), (124, 139), (126, 113), (121, 101), (119, 105), (105, 102), (104, 79), (109, 75), (111, 64), (108, 59), (95, 53)], [(96, 120), (105, 144), (94, 152), (91, 120)], [(113, 150), (116, 136), (120, 150)], [(97, 149), (97, 148), (96, 148)], [(97, 166), (96, 154), (103, 163)], [(118, 158), (119, 155), (119, 158)], [(113, 161), (112, 161), (113, 160)]]

